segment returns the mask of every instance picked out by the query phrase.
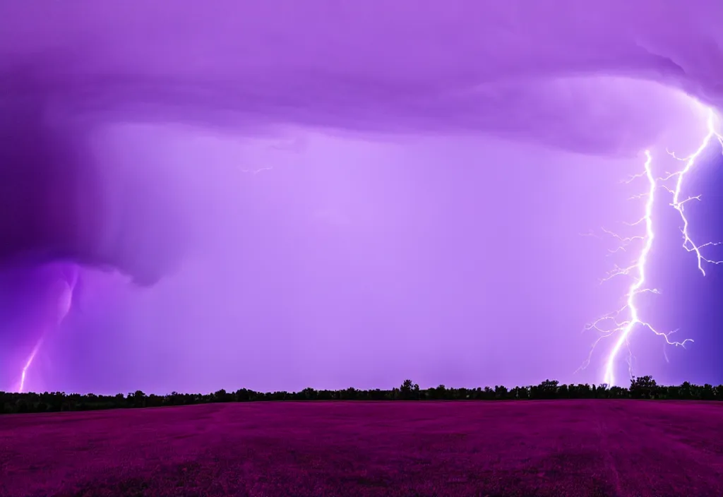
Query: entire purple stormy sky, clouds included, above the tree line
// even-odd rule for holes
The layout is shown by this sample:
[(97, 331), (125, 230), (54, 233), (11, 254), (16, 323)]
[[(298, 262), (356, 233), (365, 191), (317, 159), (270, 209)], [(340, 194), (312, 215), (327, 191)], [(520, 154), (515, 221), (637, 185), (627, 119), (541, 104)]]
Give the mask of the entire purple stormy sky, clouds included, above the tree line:
[[(629, 281), (598, 285), (614, 243), (580, 233), (638, 220), (646, 185), (620, 181), (643, 150), (680, 168), (665, 151), (698, 147), (696, 100), (723, 106), (716, 0), (82, 0), (0, 18), (7, 388), (40, 336), (35, 390), (599, 383), (612, 340), (575, 373), (596, 338), (581, 329)], [(686, 195), (719, 181), (713, 148)], [(701, 238), (723, 239), (716, 191), (686, 210)], [(696, 272), (667, 195), (663, 294), (643, 305), (696, 342), (637, 330), (636, 371), (720, 383), (723, 269)]]

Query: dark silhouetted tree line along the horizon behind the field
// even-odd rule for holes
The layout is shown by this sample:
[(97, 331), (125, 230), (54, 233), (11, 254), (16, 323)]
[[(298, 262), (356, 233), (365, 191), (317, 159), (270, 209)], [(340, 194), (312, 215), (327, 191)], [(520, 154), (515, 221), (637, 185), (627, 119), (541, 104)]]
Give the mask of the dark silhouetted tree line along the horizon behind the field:
[(534, 399), (680, 399), (723, 401), (723, 385), (693, 385), (685, 381), (677, 386), (656, 384), (651, 376), (640, 376), (630, 380), (630, 387), (608, 387), (605, 384), (560, 384), (556, 380), (545, 380), (534, 386), (515, 386), (508, 389), (497, 385), (494, 388), (435, 388), (420, 389), (418, 384), (405, 380), (398, 388), (391, 390), (315, 390), (307, 388), (301, 392), (254, 392), (239, 389), (236, 392), (218, 390), (212, 394), (147, 395), (140, 390), (127, 395), (66, 394), (44, 392), (42, 394), (0, 392), (0, 414), (21, 412), (61, 412), (137, 407), (163, 407), (173, 405), (208, 404), (212, 402), (257, 402), (271, 400), (534, 400)]

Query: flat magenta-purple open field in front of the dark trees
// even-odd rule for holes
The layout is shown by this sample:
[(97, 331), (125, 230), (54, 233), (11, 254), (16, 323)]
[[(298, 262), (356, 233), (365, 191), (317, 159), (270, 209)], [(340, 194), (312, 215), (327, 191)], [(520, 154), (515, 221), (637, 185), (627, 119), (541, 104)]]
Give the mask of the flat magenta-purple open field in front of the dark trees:
[(1, 496), (723, 496), (723, 402), (251, 402), (0, 417)]

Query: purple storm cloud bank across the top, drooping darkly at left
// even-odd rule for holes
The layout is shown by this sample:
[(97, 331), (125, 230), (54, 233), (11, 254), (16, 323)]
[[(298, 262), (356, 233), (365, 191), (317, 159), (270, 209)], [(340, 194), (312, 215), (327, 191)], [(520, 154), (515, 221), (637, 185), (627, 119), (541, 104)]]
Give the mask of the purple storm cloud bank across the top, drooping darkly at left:
[(147, 283), (177, 264), (194, 233), (174, 170), (108, 172), (87, 150), (116, 122), (482, 132), (637, 153), (690, 106), (644, 81), (722, 101), (722, 14), (712, 0), (8, 2), (0, 259), (68, 256)]

